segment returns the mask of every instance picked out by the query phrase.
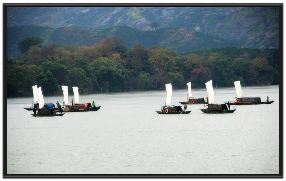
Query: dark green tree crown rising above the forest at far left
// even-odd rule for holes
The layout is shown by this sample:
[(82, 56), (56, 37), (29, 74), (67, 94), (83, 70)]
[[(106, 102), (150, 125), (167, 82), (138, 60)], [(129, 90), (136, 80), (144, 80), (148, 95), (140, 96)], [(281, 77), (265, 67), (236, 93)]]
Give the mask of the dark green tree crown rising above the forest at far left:
[(44, 41), (40, 37), (35, 37), (35, 36), (28, 36), (24, 38), (24, 40), (21, 40), (18, 42), (18, 48), (21, 50), (21, 53), (27, 52), (31, 46), (39, 46), (42, 48), (42, 43)]

